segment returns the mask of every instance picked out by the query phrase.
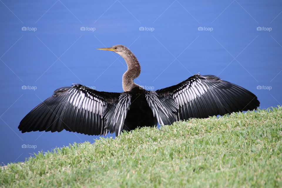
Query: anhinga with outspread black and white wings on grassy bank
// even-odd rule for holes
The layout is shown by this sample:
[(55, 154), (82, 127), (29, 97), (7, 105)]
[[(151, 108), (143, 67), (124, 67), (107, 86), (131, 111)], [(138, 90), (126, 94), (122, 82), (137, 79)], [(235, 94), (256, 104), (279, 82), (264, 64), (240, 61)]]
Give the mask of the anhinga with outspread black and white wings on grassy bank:
[(123, 45), (113, 51), (127, 64), (123, 92), (104, 92), (73, 84), (58, 88), (20, 122), (21, 132), (67, 130), (85, 135), (119, 136), (138, 127), (171, 125), (190, 118), (207, 118), (256, 110), (257, 96), (214, 75), (194, 74), (176, 85), (151, 91), (134, 83), (141, 73), (136, 56)]

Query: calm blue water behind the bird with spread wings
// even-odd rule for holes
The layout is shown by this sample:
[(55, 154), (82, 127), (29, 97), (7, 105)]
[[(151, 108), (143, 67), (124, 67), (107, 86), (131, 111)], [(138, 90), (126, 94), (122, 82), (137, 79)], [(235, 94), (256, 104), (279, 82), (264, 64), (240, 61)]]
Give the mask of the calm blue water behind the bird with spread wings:
[(135, 82), (154, 90), (200, 72), (250, 90), (260, 108), (281, 105), (281, 11), (282, 1), (2, 0), (0, 162), (99, 138), (17, 129), (57, 88), (122, 91), (124, 60), (95, 48), (129, 47), (142, 67)]

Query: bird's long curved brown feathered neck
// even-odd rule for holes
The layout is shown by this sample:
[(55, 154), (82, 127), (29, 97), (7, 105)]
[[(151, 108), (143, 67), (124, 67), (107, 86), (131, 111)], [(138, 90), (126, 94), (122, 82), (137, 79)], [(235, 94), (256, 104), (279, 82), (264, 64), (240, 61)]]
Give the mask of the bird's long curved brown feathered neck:
[(134, 83), (133, 79), (140, 75), (141, 67), (137, 58), (130, 50), (119, 54), (127, 64), (127, 71), (122, 76), (122, 89), (123, 91), (130, 91), (132, 88), (139, 86)]

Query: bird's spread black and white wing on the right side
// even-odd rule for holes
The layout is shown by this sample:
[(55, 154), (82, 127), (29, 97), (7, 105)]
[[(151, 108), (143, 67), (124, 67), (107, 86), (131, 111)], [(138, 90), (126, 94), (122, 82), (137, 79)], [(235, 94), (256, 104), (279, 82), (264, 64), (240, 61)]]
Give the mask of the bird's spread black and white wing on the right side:
[(163, 105), (177, 104), (177, 120), (206, 118), (232, 112), (254, 110), (259, 107), (259, 100), (250, 91), (233, 83), (221, 80), (214, 75), (193, 75), (183, 82), (157, 90)]

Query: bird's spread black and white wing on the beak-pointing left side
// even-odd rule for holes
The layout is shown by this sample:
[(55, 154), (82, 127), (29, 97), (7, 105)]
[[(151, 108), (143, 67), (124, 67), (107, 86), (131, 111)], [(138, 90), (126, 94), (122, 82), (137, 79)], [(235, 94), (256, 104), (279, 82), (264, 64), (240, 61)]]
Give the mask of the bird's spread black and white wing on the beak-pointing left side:
[[(122, 93), (100, 92), (80, 84), (63, 87), (29, 112), (19, 125), (22, 132), (63, 129), (86, 135), (114, 132), (115, 124), (124, 114), (116, 114)], [(107, 118), (115, 117), (115, 120)]]

